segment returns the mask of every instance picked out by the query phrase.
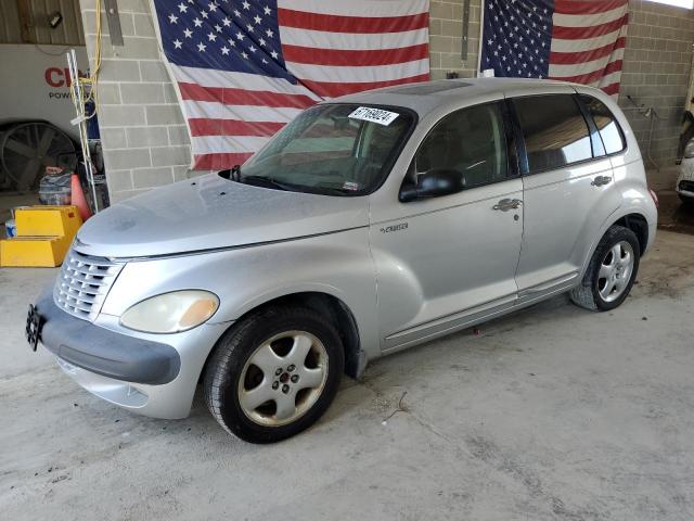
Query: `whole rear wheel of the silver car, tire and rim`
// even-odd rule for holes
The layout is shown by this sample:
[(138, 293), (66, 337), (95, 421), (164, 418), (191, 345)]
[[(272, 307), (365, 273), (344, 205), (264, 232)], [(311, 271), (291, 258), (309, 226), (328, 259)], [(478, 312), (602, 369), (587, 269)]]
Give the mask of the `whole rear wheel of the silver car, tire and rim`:
[(624, 226), (611, 227), (597, 243), (581, 284), (569, 293), (574, 304), (593, 312), (619, 306), (631, 291), (640, 257), (635, 233)]

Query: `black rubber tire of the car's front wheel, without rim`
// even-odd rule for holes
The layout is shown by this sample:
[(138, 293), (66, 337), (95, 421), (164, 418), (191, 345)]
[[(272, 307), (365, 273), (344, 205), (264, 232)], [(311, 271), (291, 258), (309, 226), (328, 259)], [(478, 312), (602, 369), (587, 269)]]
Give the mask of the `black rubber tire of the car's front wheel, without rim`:
[[(221, 364), (213, 360), (216, 367), (208, 371), (223, 371), (218, 374), (220, 382), (218, 396), (223, 423), (235, 435), (252, 443), (273, 443), (293, 436), (314, 423), (332, 403), (344, 371), (345, 355), (337, 331), (327, 320), (316, 312), (304, 308), (269, 309), (253, 317), (250, 323), (231, 331), (218, 346), (220, 354), (215, 357), (226, 359)], [(260, 425), (250, 420), (239, 401), (239, 378), (248, 357), (268, 339), (284, 331), (307, 331), (317, 336), (327, 353), (327, 378), (323, 393), (313, 406), (300, 418), (281, 427)]]

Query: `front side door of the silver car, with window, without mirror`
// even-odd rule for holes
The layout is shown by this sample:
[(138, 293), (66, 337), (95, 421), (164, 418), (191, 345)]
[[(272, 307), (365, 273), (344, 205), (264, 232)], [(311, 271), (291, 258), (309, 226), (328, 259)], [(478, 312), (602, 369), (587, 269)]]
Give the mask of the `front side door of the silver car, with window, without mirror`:
[(460, 192), (397, 203), (396, 214), (372, 207), (370, 241), (385, 352), (513, 306), (523, 185), (515, 154), (510, 160), (504, 119), (503, 102), (466, 107), (444, 117), (424, 138), (410, 176), (455, 169), (465, 179)]

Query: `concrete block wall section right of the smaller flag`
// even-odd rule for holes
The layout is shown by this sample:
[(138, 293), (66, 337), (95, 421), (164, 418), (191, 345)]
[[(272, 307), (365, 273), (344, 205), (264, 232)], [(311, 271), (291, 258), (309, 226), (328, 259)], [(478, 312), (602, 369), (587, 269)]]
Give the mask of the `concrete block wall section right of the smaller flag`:
[(639, 105), (655, 107), (659, 117), (653, 122), (651, 156), (658, 166), (672, 165), (677, 157), (693, 45), (694, 11), (644, 0), (629, 1), (619, 105), (631, 123), (644, 158), (651, 120), (628, 96)]

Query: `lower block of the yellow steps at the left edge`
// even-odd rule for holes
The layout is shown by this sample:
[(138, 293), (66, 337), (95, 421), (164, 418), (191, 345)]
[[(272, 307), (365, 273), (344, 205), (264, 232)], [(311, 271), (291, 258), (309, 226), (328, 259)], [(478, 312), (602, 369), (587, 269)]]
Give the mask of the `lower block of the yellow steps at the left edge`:
[(0, 241), (0, 266), (43, 267), (63, 264), (73, 238), (63, 237), (13, 237)]

